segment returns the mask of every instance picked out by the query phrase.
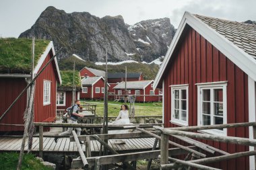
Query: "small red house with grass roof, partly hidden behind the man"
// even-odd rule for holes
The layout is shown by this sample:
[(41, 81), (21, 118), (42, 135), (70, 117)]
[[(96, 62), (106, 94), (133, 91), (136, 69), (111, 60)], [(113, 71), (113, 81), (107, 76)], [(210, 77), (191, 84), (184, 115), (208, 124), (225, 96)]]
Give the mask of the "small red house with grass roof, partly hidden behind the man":
[[(62, 84), (58, 84), (57, 87), (57, 110), (65, 110), (72, 105), (75, 99), (80, 99), (82, 90), (81, 78), (78, 71), (75, 71), (74, 75), (75, 86), (73, 86), (73, 71), (61, 71), (63, 81)], [(73, 91), (75, 91), (74, 96)]]

